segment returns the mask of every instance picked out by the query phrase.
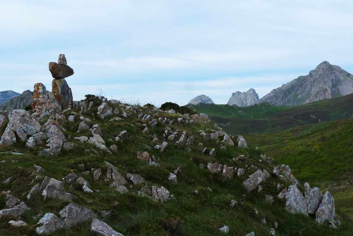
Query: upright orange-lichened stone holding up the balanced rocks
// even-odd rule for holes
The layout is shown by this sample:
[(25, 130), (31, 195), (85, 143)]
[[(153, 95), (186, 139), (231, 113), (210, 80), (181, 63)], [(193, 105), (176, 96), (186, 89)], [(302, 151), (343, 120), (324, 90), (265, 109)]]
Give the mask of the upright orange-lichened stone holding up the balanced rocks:
[(52, 93), (56, 100), (58, 100), (62, 110), (73, 108), (73, 98), (71, 88), (64, 78), (55, 78), (52, 81)]

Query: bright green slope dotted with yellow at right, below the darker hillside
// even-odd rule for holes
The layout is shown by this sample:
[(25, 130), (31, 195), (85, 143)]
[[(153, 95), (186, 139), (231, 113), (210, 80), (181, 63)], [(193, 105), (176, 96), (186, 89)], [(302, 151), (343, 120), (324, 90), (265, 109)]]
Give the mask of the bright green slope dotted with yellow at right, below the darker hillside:
[(246, 135), (250, 145), (289, 165), (300, 182), (330, 190), (353, 219), (353, 118), (279, 133)]

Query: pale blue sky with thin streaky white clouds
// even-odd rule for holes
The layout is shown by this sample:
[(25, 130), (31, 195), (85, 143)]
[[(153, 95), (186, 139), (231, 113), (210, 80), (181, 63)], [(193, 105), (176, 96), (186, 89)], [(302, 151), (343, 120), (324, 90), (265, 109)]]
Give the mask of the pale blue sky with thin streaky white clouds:
[(52, 89), (64, 53), (73, 99), (185, 105), (259, 97), (322, 61), (353, 73), (353, 1), (11, 0), (0, 7), (0, 91)]

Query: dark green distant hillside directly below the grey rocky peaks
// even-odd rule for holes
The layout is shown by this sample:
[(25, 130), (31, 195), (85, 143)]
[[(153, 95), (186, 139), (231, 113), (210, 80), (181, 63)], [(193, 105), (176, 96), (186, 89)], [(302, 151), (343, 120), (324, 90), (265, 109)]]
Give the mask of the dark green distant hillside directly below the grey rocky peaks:
[(194, 108), (230, 134), (280, 132), (307, 124), (317, 124), (353, 116), (353, 94), (324, 99), (295, 107), (261, 103), (249, 107), (203, 104)]

